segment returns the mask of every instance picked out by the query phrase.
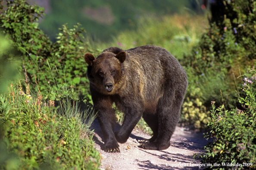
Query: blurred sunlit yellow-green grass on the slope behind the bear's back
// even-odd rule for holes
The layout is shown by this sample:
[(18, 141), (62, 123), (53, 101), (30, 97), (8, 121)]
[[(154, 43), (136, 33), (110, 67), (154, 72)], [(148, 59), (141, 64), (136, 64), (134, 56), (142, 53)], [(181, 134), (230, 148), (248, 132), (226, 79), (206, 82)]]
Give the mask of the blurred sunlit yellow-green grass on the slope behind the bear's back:
[[(200, 36), (209, 27), (206, 15), (175, 14), (140, 19), (136, 30), (127, 30), (113, 37), (111, 43), (100, 44), (103, 49), (117, 46), (130, 49), (155, 45), (167, 49), (177, 59), (191, 52)], [(98, 48), (99, 48), (98, 46)]]

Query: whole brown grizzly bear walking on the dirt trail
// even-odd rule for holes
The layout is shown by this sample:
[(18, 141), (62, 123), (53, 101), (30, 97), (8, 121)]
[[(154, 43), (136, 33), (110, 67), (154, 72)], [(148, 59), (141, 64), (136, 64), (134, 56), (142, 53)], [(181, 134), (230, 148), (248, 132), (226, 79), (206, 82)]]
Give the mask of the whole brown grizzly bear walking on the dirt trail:
[[(123, 51), (105, 49), (97, 58), (84, 55), (87, 77), (105, 152), (120, 152), (141, 116), (153, 131), (144, 149), (163, 150), (179, 121), (187, 89), (186, 71), (167, 50), (141, 46)], [(112, 104), (124, 112), (122, 126), (114, 131), (116, 115)]]

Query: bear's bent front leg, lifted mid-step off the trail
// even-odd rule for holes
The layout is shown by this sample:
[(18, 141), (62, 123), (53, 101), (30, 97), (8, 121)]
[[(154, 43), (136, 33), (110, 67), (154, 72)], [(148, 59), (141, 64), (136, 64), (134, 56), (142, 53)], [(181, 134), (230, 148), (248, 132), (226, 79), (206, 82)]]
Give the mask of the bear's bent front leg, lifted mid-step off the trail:
[(140, 107), (134, 106), (126, 109), (123, 124), (120, 129), (115, 132), (116, 140), (119, 143), (125, 143), (128, 140), (132, 130), (140, 120), (143, 110), (139, 108)]

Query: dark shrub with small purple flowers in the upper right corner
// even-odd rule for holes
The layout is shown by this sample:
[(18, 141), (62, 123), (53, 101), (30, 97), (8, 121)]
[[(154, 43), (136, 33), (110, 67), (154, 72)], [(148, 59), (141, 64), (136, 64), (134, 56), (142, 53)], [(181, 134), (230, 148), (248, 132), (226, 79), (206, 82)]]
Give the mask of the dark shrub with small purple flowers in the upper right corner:
[(255, 0), (219, 2), (223, 9), (221, 14), (210, 21), (210, 28), (204, 33), (200, 45), (184, 60), (184, 64), (193, 67), (198, 75), (209, 68), (227, 71), (236, 63), (246, 65), (249, 63), (245, 61), (256, 56)]

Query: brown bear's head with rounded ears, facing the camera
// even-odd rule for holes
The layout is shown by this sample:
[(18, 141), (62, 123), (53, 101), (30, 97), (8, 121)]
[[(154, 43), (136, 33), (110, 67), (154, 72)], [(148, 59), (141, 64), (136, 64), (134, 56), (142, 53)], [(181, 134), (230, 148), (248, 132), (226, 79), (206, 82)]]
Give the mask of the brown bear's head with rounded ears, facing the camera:
[(123, 72), (123, 63), (126, 52), (117, 55), (112, 52), (103, 52), (97, 58), (90, 53), (84, 55), (87, 62), (87, 77), (89, 81), (102, 93), (111, 94), (115, 86), (120, 82)]

